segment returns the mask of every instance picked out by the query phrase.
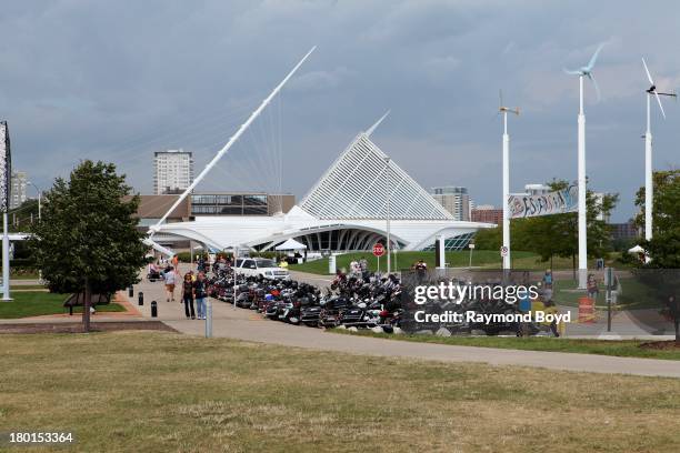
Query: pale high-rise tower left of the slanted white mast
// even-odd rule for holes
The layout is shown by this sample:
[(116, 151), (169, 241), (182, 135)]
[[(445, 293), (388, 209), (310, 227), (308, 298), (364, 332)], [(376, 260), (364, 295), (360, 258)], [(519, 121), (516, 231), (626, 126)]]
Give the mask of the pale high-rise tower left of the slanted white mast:
[(193, 181), (193, 157), (181, 149), (157, 151), (153, 170), (153, 193), (180, 193)]

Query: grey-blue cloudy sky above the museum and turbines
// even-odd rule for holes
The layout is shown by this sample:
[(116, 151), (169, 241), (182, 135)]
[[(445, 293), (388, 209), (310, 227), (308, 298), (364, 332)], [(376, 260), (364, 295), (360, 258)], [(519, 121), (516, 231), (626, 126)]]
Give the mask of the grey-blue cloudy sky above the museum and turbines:
[[(47, 188), (81, 159), (116, 162), (142, 193), (153, 151), (183, 148), (197, 173), (311, 46), (280, 100), (203, 190), (279, 185), (302, 197), (352, 138), (373, 135), (422, 185), (500, 204), (498, 90), (511, 119), (511, 190), (576, 179), (578, 80), (587, 85), (590, 187), (618, 192), (614, 220), (643, 184), (644, 56), (660, 89), (680, 85), (673, 1), (3, 0), (0, 117), (13, 167)], [(654, 105), (654, 167), (680, 163), (680, 107)], [(280, 150), (280, 152), (279, 152)], [(359, 182), (360, 183), (360, 182)]]

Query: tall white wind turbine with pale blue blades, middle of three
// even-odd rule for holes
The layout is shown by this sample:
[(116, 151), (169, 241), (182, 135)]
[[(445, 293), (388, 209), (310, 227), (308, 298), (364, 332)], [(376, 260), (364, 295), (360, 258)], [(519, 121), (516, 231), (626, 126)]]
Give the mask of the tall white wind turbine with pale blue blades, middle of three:
[(586, 115), (583, 114), (583, 77), (590, 79), (594, 85), (598, 94), (598, 101), (600, 100), (600, 88), (598, 82), (592, 76), (592, 69), (598, 60), (602, 46), (598, 46), (598, 49), (590, 58), (588, 66), (584, 66), (578, 70), (569, 71), (564, 70), (568, 74), (579, 77), (579, 138), (578, 138), (578, 150), (579, 150), (579, 163), (578, 163), (578, 183), (579, 183), (579, 288), (586, 289), (588, 280), (588, 236), (587, 236), (587, 222), (586, 222)]

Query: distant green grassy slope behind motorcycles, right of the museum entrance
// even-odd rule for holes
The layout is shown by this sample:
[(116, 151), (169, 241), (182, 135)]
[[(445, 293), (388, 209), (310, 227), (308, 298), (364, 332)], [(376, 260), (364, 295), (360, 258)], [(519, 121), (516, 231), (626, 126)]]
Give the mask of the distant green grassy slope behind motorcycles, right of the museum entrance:
[[(354, 259), (366, 258), (369, 262), (369, 269), (372, 271), (378, 270), (378, 260), (371, 252), (352, 252), (338, 255), (337, 266), (338, 269), (349, 269), (349, 264)], [(423, 259), (428, 263), (429, 269), (436, 266), (434, 252), (397, 252), (392, 255), (392, 268), (393, 269), (409, 269), (416, 261)], [(470, 262), (470, 251), (461, 250), (447, 252), (447, 263), (450, 268), (467, 268)], [(553, 269), (568, 269), (571, 270), (571, 259), (558, 258), (552, 260)], [(501, 269), (501, 258), (498, 250), (474, 250), (472, 252), (472, 265), (482, 266), (489, 269)], [(596, 268), (596, 261), (591, 260), (588, 264), (591, 269)], [(550, 262), (541, 262), (539, 256), (532, 252), (512, 252), (512, 268), (513, 269), (526, 269), (544, 271), (550, 268)], [(310, 261), (303, 264), (292, 264), (290, 266), (293, 271), (309, 272), (314, 274), (326, 275), (328, 274), (328, 259), (321, 259)], [(384, 271), (387, 269), (387, 258), (380, 259), (380, 269)]]

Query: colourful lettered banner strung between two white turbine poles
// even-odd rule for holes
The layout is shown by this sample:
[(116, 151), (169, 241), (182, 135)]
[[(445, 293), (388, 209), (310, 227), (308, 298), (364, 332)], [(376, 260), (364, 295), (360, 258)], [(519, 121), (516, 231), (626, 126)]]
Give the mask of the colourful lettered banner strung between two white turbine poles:
[(576, 184), (541, 195), (510, 195), (508, 198), (510, 219), (576, 212), (578, 204), (579, 188)]

